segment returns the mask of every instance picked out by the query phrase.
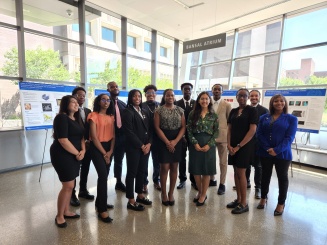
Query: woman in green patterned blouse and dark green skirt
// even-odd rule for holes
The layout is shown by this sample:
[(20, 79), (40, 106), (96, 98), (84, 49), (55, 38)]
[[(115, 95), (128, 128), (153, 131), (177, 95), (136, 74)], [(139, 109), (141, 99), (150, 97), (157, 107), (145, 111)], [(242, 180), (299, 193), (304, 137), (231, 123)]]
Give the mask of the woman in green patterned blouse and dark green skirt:
[(194, 175), (199, 190), (193, 201), (196, 206), (202, 206), (207, 199), (210, 175), (216, 174), (215, 139), (218, 137), (218, 117), (207, 92), (200, 93), (196, 99), (188, 117), (187, 132), (191, 142), (189, 172)]

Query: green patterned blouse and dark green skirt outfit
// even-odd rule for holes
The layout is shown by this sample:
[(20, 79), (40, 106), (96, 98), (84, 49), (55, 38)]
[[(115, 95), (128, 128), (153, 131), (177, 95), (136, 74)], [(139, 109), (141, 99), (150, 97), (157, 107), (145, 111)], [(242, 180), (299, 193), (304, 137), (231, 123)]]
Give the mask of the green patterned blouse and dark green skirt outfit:
[[(200, 117), (196, 126), (192, 126), (193, 111), (187, 121), (187, 132), (190, 140), (189, 147), (189, 173), (193, 175), (216, 174), (216, 146), (215, 139), (218, 137), (218, 116), (216, 113), (207, 113), (204, 118)], [(194, 145), (200, 147), (209, 145), (207, 152), (195, 150)]]

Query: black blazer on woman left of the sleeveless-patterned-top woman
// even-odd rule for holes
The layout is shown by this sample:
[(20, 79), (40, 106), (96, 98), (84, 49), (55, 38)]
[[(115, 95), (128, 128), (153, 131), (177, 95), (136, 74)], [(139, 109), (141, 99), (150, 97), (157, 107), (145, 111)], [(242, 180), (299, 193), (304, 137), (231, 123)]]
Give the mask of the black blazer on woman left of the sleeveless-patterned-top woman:
[(133, 107), (127, 107), (122, 112), (122, 123), (126, 136), (126, 145), (139, 150), (141, 150), (142, 145), (152, 143), (149, 114), (142, 110), (142, 115), (143, 119)]

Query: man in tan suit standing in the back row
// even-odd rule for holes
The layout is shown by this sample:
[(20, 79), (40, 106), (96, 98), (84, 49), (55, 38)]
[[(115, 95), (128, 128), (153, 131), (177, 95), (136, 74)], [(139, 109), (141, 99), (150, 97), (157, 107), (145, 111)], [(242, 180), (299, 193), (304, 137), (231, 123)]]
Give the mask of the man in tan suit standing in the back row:
[[(221, 98), (223, 93), (223, 85), (214, 84), (212, 90), (212, 103), (215, 113), (218, 115), (219, 136), (216, 139), (216, 147), (218, 150), (219, 167), (220, 167), (220, 183), (217, 194), (225, 194), (225, 181), (227, 174), (227, 119), (232, 110), (231, 105)], [(210, 186), (215, 186), (215, 176), (210, 177)]]

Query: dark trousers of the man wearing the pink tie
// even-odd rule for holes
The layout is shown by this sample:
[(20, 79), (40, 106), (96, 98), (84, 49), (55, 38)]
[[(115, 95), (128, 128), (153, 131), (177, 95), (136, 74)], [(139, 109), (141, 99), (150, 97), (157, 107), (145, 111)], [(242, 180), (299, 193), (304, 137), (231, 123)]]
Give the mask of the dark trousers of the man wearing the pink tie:
[(123, 171), (123, 159), (125, 154), (125, 135), (122, 129), (116, 130), (115, 135), (115, 149), (114, 149), (114, 177), (121, 180)]

